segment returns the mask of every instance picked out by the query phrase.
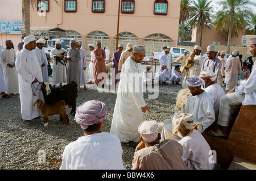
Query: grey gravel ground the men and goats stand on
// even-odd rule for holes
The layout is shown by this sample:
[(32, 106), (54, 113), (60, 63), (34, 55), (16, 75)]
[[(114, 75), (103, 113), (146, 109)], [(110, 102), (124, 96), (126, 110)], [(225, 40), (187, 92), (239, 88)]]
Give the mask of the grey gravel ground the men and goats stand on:
[[(146, 69), (147, 64), (142, 64), (142, 69)], [(154, 67), (154, 66), (153, 66)], [(159, 65), (156, 66), (158, 70)], [(88, 71), (88, 69), (86, 70)], [(87, 74), (86, 74), (87, 75)], [(88, 81), (88, 77), (86, 77)], [(50, 82), (52, 77), (50, 77)], [(95, 85), (86, 85), (87, 91), (80, 89), (77, 98), (77, 107), (80, 104), (97, 99), (104, 102), (108, 107), (108, 112), (104, 120), (104, 132), (110, 131), (112, 115), (114, 112), (115, 99), (117, 93), (99, 92)], [(82, 88), (82, 87), (81, 87)], [(159, 96), (156, 99), (148, 99), (149, 92), (144, 93), (151, 113), (144, 113), (144, 120), (153, 119), (158, 122), (170, 118), (175, 112), (176, 95), (181, 89), (181, 85), (159, 85)], [(53, 116), (48, 127), (42, 124), (42, 118), (34, 119), (34, 125), (22, 123), (20, 114), (19, 94), (11, 99), (0, 98), (0, 148), (2, 158), (0, 158), (0, 169), (2, 170), (55, 170), (61, 166), (63, 150), (70, 142), (83, 136), (83, 131), (79, 124), (69, 114), (69, 125), (62, 126), (59, 116)], [(70, 108), (67, 108), (70, 112)], [(122, 144), (123, 166), (132, 167), (134, 149)], [(40, 160), (46, 155), (46, 160)]]

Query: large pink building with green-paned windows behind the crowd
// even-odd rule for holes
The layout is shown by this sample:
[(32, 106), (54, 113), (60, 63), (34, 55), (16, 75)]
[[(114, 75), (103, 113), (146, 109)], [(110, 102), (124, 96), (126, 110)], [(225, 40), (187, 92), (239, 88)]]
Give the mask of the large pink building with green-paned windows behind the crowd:
[[(46, 17), (42, 1), (38, 11), (31, 10), (31, 27), (57, 27), (65, 30), (67, 37), (86, 45), (102, 41), (102, 48), (115, 50), (118, 22), (118, 0), (45, 0)], [(120, 0), (118, 44), (144, 44), (146, 55), (162, 51), (163, 45), (177, 47), (180, 0)], [(31, 33), (33, 33), (31, 31)], [(55, 36), (57, 37), (57, 36)], [(42, 38), (46, 38), (43, 37)]]

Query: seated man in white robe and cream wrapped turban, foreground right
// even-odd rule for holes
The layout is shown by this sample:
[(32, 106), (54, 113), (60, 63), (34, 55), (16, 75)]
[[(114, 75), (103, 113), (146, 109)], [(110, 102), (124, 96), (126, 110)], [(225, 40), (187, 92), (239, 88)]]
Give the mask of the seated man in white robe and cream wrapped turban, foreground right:
[(183, 146), (182, 159), (189, 170), (212, 170), (214, 162), (209, 158), (212, 157), (212, 151), (208, 142), (203, 135), (193, 129), (194, 117), (188, 113), (176, 113), (172, 119), (173, 133), (178, 133), (181, 137), (179, 143)]

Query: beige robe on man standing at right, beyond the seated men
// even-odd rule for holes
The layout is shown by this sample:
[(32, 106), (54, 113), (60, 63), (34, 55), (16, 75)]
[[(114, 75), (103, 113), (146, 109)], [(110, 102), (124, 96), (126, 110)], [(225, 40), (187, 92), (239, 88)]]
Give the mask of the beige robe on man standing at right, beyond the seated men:
[(234, 89), (237, 86), (238, 74), (241, 73), (241, 62), (238, 58), (233, 57), (226, 65), (226, 72), (228, 73), (228, 81), (226, 82), (226, 90)]

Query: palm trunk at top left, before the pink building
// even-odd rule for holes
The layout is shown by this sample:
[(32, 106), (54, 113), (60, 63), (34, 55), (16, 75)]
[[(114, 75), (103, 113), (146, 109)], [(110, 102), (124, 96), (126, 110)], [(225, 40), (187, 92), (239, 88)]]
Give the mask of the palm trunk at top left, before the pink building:
[[(59, 5), (59, 2), (54, 0), (57, 5)], [(42, 0), (44, 3), (44, 0)], [(30, 7), (34, 10), (34, 6), (37, 6), (37, 1), (36, 0), (22, 0), (22, 19), (24, 21), (24, 28), (25, 28), (25, 33), (27, 35), (30, 35)]]

